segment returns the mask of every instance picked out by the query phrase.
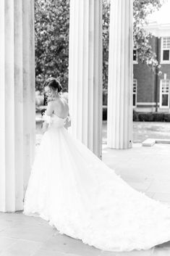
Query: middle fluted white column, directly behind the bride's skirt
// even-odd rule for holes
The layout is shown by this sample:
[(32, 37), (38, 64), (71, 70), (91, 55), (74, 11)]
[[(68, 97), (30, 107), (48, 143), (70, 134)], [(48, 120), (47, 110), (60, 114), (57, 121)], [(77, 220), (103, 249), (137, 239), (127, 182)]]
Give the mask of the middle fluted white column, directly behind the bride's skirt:
[(71, 0), (69, 110), (72, 135), (101, 157), (102, 1)]

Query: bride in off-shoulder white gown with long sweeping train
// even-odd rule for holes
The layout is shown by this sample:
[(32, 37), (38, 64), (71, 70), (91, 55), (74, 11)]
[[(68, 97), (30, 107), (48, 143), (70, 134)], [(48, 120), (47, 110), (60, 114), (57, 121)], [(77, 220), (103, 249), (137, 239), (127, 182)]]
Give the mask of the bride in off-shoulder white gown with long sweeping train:
[(132, 189), (72, 138), (64, 128), (69, 107), (56, 78), (46, 80), (45, 91), (45, 133), (30, 173), (25, 215), (38, 215), (60, 234), (108, 251), (169, 241), (169, 207)]

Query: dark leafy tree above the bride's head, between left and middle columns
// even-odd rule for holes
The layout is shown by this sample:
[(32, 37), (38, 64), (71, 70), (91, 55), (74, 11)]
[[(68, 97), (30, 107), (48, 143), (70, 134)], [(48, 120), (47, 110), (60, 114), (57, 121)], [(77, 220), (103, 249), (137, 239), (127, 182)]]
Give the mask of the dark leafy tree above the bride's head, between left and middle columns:
[(42, 91), (49, 76), (67, 87), (69, 0), (35, 0), (35, 78)]

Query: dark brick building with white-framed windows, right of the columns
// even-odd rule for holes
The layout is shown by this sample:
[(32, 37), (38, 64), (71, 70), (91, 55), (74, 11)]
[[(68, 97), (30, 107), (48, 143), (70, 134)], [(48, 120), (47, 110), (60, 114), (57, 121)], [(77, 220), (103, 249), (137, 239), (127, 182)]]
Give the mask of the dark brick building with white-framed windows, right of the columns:
[(148, 30), (155, 34), (150, 46), (158, 56), (161, 75), (139, 62), (134, 49), (133, 107), (137, 112), (170, 112), (170, 25), (153, 23)]

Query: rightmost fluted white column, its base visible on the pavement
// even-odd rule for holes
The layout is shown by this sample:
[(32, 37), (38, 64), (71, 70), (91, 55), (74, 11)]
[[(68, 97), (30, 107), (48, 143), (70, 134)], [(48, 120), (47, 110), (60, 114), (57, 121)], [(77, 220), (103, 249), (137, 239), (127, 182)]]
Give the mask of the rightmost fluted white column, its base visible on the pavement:
[(111, 0), (108, 146), (132, 147), (132, 0)]

